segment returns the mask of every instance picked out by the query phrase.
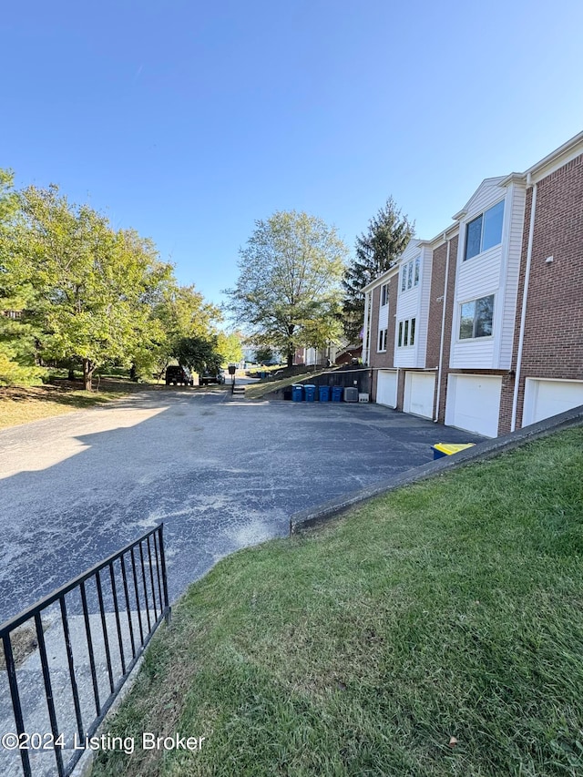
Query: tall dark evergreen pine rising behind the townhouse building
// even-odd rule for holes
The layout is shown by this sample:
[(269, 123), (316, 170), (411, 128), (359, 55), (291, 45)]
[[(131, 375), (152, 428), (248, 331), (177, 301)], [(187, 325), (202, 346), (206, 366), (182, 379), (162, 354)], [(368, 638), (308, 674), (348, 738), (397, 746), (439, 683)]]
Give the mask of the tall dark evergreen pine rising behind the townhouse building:
[(414, 221), (401, 214), (392, 197), (356, 238), (355, 259), (344, 273), (343, 323), (346, 337), (358, 342), (364, 321), (363, 288), (388, 270), (414, 235)]

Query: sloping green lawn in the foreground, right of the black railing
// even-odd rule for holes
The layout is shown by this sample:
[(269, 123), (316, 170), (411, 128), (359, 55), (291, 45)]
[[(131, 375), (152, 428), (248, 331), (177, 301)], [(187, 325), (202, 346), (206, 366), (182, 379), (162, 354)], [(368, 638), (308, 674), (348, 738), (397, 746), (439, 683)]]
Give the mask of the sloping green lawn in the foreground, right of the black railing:
[(106, 730), (201, 751), (93, 777), (581, 775), (582, 730), (578, 429), (223, 559)]

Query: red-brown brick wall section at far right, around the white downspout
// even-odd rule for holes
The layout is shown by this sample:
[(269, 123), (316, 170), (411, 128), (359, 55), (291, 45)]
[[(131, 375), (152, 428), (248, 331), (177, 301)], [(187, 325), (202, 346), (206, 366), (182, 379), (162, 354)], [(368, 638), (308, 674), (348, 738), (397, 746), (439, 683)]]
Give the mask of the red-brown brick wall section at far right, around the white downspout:
[[(527, 191), (525, 229), (518, 284), (513, 370), (525, 284), (532, 189)], [(545, 261), (552, 256), (553, 261)], [(537, 210), (528, 281), (517, 428), (527, 377), (583, 380), (583, 155), (537, 184)], [(514, 382), (513, 382), (514, 383)], [(512, 387), (514, 390), (514, 386)], [(511, 399), (504, 396), (504, 430), (510, 428)], [(501, 424), (502, 425), (502, 424)]]

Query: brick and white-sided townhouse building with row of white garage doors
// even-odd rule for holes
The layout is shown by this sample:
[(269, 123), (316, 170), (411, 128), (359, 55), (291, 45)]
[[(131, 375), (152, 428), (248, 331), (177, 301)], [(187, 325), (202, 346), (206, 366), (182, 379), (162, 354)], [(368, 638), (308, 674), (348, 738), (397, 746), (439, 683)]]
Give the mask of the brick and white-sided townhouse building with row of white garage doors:
[(373, 399), (486, 436), (583, 404), (583, 133), (365, 287)]

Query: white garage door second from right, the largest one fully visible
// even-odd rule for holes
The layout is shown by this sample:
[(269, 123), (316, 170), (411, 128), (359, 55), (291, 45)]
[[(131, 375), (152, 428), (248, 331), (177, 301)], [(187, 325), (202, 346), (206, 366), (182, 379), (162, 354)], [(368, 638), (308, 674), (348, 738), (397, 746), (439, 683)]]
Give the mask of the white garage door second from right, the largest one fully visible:
[(447, 381), (445, 424), (476, 435), (496, 437), (502, 378), (493, 375), (451, 375)]

